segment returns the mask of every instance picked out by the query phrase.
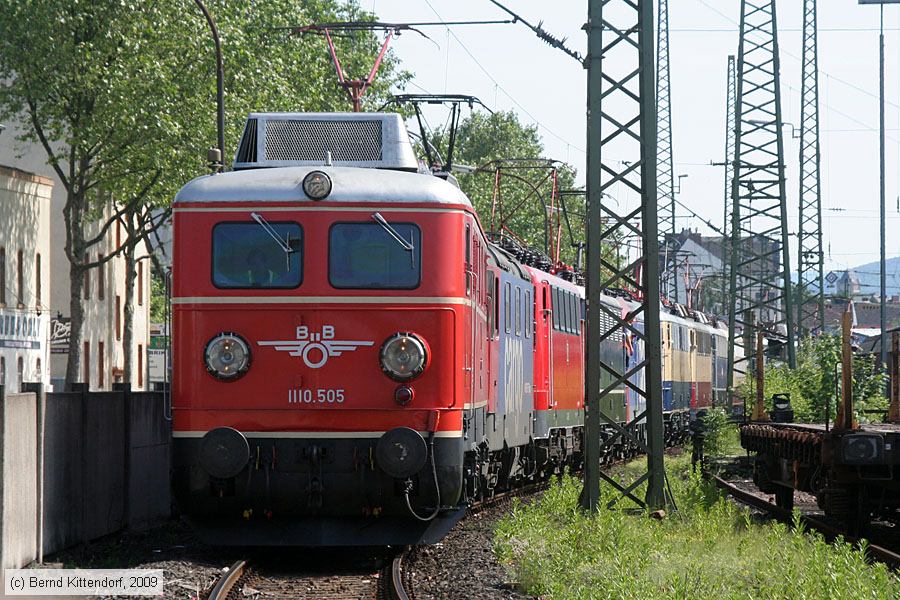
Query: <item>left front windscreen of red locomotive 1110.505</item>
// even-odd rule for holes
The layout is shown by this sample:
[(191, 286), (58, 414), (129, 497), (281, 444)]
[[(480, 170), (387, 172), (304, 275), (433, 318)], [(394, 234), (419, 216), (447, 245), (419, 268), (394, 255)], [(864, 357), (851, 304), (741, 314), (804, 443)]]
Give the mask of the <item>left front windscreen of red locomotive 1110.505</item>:
[(303, 229), (291, 222), (268, 225), (271, 231), (253, 221), (225, 222), (213, 227), (213, 285), (225, 289), (286, 289), (300, 285)]

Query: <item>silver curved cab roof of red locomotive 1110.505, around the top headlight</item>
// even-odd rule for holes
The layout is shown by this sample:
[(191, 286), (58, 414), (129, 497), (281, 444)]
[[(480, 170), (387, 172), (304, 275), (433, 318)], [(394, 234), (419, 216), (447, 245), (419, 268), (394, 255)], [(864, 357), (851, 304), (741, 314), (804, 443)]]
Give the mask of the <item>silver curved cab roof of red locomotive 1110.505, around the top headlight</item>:
[(175, 196), (179, 202), (315, 202), (303, 193), (303, 178), (322, 171), (332, 181), (327, 202), (434, 203), (471, 207), (459, 188), (439, 177), (356, 167), (279, 167), (204, 175)]

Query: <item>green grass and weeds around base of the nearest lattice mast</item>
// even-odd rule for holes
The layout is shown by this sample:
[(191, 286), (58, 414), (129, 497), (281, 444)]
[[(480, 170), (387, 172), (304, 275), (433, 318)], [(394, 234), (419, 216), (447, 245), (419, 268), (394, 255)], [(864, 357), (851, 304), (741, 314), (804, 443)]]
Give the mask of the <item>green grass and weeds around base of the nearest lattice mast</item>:
[[(626, 479), (644, 468), (624, 468)], [(900, 598), (900, 581), (849, 544), (778, 523), (754, 522), (690, 469), (667, 459), (679, 510), (578, 508), (581, 482), (565, 478), (539, 502), (516, 503), (497, 525), (495, 552), (520, 589), (553, 599)], [(603, 506), (612, 499), (602, 488)], [(640, 497), (640, 494), (637, 494)]]

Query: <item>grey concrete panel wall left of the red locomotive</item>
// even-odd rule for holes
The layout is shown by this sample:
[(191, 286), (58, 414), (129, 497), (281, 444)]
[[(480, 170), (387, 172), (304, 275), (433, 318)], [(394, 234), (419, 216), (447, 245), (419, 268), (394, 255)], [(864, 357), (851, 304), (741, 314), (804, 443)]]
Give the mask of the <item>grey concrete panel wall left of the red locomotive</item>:
[(156, 393), (0, 388), (2, 566), (168, 518), (165, 415)]

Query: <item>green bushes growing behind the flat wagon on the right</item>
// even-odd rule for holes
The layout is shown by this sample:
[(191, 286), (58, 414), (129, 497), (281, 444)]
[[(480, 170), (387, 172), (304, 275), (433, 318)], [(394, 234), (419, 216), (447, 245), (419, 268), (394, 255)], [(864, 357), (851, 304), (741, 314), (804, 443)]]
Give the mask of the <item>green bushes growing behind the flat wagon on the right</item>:
[[(803, 338), (797, 349), (796, 369), (790, 369), (786, 364), (766, 367), (767, 403), (773, 394), (790, 394), (796, 421), (821, 423), (825, 421), (826, 411), (829, 420), (833, 421), (837, 408), (837, 367), (840, 363), (839, 335)], [(883, 396), (886, 382), (887, 376), (879, 369), (877, 357), (854, 354), (853, 407), (858, 421), (864, 423), (878, 420), (877, 415), (864, 411), (887, 408), (887, 399)], [(745, 378), (738, 386), (737, 393), (749, 407), (756, 397), (755, 381), (750, 377)]]

